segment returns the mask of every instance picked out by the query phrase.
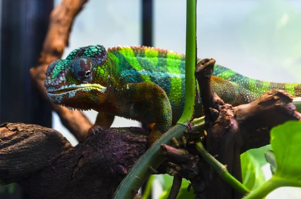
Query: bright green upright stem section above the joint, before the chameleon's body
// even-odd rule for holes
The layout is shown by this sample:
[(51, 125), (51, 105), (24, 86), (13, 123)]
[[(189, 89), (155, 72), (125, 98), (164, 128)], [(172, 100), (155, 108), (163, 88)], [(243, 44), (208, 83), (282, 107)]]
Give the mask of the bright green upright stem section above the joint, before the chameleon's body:
[(185, 105), (178, 124), (187, 125), (191, 120), (195, 105), (194, 75), (197, 56), (197, 1), (186, 1), (186, 68), (185, 68)]

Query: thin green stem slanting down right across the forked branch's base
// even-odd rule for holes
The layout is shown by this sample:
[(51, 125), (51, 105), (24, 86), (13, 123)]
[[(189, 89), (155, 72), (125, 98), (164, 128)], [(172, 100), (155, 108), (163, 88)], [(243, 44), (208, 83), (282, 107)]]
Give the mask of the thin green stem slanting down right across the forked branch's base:
[(227, 170), (227, 167), (220, 163), (217, 159), (215, 159), (210, 153), (207, 152), (205, 147), (203, 146), (202, 142), (196, 142), (196, 148), (199, 154), (208, 162), (213, 170), (215, 170), (221, 178), (226, 180), (228, 184), (230, 184), (233, 188), (237, 191), (242, 193), (248, 193), (250, 190), (243, 185), (240, 181), (238, 181), (235, 177), (233, 177)]

